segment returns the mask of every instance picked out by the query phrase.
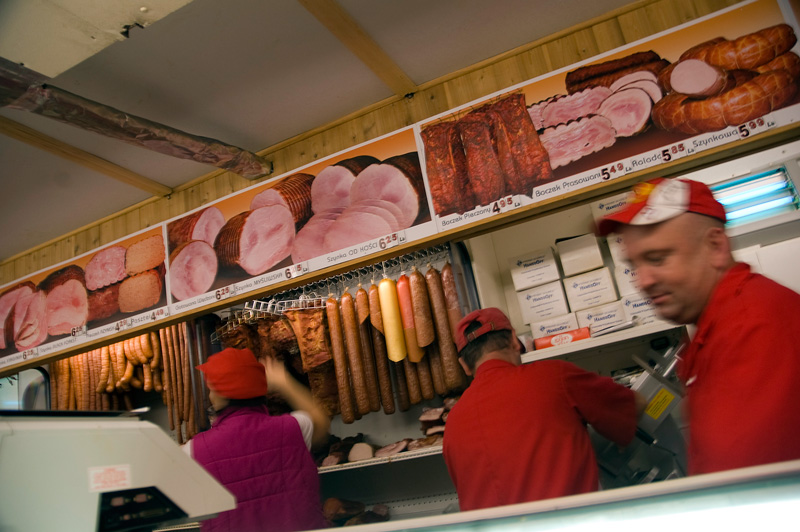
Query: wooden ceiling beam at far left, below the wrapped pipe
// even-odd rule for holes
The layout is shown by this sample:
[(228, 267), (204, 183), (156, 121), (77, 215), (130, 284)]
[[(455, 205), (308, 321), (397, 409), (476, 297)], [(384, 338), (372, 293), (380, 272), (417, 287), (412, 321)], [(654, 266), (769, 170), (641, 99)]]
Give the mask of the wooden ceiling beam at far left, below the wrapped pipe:
[(0, 116), (0, 133), (39, 148), (53, 155), (57, 155), (68, 161), (72, 161), (95, 172), (99, 172), (127, 185), (142, 189), (154, 196), (169, 196), (172, 189), (153, 181), (147, 177), (132, 172), (127, 168), (118, 166), (112, 162), (101, 159), (96, 155), (85, 152), (65, 142), (40, 133), (33, 128), (20, 124), (14, 120)]

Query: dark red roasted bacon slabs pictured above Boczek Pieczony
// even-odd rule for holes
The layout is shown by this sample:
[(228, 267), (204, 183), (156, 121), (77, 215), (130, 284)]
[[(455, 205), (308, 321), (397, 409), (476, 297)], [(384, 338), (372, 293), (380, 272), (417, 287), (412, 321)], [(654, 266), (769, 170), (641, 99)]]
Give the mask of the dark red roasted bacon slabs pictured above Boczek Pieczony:
[(513, 93), (457, 120), (423, 127), (425, 168), (439, 216), (526, 195), (552, 170), (525, 96)]

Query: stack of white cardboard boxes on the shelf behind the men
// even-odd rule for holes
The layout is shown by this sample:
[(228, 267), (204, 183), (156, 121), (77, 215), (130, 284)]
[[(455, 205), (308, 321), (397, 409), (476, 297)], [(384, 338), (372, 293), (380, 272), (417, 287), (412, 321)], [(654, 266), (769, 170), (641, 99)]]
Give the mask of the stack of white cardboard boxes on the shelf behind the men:
[[(624, 196), (618, 196), (592, 205), (592, 212), (599, 218), (622, 205)], [(548, 247), (510, 259), (520, 310), (536, 349), (658, 319), (637, 290), (623, 253), (618, 235), (585, 234), (557, 241), (555, 252)]]

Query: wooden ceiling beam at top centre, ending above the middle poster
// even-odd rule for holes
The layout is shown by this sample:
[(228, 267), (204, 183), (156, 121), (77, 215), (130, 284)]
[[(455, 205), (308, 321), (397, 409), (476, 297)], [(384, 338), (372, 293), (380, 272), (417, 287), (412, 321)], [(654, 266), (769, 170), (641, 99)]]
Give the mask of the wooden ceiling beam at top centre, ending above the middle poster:
[(392, 91), (404, 97), (417, 92), (417, 84), (386, 55), (367, 32), (335, 0), (297, 0)]

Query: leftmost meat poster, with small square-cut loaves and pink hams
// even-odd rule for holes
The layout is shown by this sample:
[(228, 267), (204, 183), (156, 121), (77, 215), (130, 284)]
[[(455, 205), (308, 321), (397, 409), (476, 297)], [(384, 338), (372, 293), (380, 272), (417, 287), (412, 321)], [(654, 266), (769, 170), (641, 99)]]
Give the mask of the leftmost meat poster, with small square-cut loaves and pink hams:
[(0, 288), (0, 368), (169, 315), (159, 224)]

